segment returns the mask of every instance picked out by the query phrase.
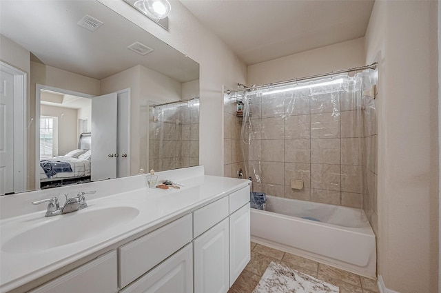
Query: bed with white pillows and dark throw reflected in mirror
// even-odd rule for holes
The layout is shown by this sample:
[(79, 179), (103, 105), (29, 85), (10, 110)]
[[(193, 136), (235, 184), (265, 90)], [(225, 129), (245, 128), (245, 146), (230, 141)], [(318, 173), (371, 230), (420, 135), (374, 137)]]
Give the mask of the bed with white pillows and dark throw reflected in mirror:
[(90, 182), (91, 152), (90, 132), (84, 132), (80, 134), (77, 149), (64, 156), (40, 157), (40, 187)]

